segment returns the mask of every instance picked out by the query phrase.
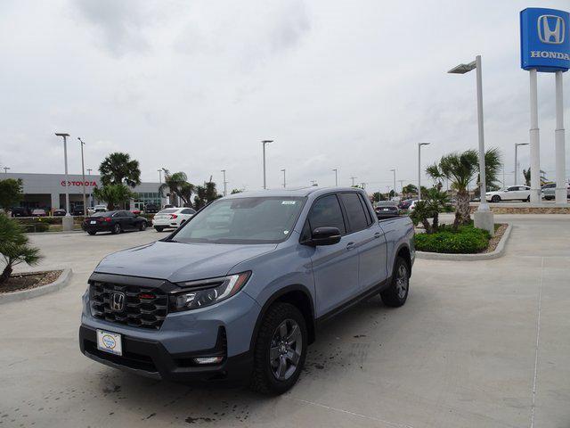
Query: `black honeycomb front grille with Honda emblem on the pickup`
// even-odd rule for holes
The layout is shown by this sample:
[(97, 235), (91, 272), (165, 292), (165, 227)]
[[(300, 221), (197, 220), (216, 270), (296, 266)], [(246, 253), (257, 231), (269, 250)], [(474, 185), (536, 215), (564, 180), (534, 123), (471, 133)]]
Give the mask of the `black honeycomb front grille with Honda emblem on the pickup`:
[(89, 298), (91, 315), (111, 323), (159, 329), (167, 317), (168, 296), (158, 288), (94, 282)]

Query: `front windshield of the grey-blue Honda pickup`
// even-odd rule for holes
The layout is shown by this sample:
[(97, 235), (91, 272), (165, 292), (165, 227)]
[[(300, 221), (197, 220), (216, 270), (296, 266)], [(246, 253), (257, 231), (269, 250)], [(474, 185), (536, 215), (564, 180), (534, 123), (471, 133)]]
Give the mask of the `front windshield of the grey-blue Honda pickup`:
[(281, 243), (305, 204), (300, 197), (244, 197), (212, 202), (175, 236), (178, 243)]

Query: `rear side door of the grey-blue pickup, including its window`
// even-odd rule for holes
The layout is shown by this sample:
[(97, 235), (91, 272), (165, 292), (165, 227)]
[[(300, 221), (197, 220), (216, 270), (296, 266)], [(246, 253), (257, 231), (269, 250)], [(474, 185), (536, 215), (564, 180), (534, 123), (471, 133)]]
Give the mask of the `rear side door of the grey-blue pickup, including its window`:
[(361, 193), (340, 193), (348, 219), (348, 237), (358, 251), (358, 284), (361, 291), (386, 279), (386, 239)]

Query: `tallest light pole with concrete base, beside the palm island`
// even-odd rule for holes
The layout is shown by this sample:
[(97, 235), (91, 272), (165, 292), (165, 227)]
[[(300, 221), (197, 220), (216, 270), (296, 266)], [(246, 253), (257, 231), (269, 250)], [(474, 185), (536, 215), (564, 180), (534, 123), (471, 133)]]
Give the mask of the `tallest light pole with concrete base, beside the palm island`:
[(476, 93), (477, 93), (477, 134), (479, 136), (479, 208), (475, 214), (475, 226), (485, 229), (494, 235), (493, 212), (486, 201), (487, 192), (485, 182), (485, 134), (483, 128), (483, 73), (481, 70), (481, 55), (475, 57), (475, 61), (468, 64), (460, 64), (449, 70), (452, 74), (465, 74), (476, 69)]

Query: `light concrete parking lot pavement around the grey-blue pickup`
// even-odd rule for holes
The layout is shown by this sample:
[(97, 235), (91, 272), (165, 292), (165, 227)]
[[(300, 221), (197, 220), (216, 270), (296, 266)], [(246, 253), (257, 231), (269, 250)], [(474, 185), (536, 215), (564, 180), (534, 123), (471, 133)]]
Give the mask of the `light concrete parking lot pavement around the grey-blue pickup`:
[(496, 216), (507, 254), (419, 259), (403, 308), (326, 325), (287, 394), (165, 383), (78, 350), (80, 296), (102, 257), (163, 234), (33, 235), (71, 284), (0, 306), (0, 427), (570, 426), (570, 216)]

